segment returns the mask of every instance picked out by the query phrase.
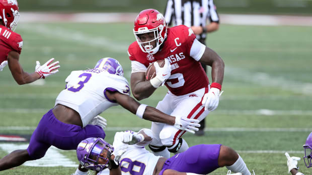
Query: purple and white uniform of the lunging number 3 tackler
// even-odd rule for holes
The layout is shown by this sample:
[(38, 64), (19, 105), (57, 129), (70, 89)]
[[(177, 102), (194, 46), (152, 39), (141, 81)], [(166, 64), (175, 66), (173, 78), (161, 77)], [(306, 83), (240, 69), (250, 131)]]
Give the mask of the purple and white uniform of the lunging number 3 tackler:
[(103, 128), (88, 124), (94, 117), (107, 108), (118, 105), (106, 98), (105, 92), (118, 91), (130, 95), (127, 80), (118, 75), (110, 74), (103, 69), (72, 71), (66, 78), (66, 89), (62, 90), (55, 105), (62, 104), (77, 111), (82, 119), (81, 126), (66, 124), (57, 120), (49, 110), (41, 118), (33, 132), (27, 148), (32, 159), (44, 156), (53, 145), (59, 149), (76, 149), (77, 145), (89, 137), (105, 137)]

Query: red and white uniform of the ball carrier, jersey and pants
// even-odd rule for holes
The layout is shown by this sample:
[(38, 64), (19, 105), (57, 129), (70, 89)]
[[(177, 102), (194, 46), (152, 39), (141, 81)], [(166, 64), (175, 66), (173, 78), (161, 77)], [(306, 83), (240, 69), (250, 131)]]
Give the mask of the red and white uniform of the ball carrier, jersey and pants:
[[(202, 120), (209, 111), (204, 110), (202, 97), (208, 92), (208, 78), (198, 60), (202, 57), (205, 46), (196, 40), (193, 31), (184, 26), (168, 29), (167, 40), (162, 50), (151, 55), (141, 51), (137, 42), (133, 42), (128, 49), (131, 60), (132, 73), (145, 72), (148, 65), (157, 60), (170, 60), (171, 76), (165, 85), (169, 92), (157, 109), (176, 117), (187, 116)], [(152, 122), (151, 130), (155, 146), (175, 145), (185, 133), (174, 126)]]

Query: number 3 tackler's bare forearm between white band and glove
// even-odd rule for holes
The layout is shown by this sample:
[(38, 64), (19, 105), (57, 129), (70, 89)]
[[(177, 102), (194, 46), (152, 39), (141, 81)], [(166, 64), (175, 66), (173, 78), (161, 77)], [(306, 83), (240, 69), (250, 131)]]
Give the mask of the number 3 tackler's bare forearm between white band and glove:
[(147, 106), (143, 114), (143, 119), (153, 121), (153, 122), (174, 125), (176, 117), (167, 115), (156, 108)]

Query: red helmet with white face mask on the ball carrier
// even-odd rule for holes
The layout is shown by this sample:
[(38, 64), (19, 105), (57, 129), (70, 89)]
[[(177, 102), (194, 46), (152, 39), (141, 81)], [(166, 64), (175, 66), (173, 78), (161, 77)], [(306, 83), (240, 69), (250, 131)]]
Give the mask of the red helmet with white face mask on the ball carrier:
[[(154, 33), (154, 39), (141, 42), (139, 35), (145, 33)], [(139, 13), (134, 21), (134, 36), (141, 50), (146, 53), (155, 54), (160, 46), (167, 38), (167, 25), (164, 16), (154, 9), (146, 9)], [(151, 42), (156, 40), (156, 47), (151, 45)]]

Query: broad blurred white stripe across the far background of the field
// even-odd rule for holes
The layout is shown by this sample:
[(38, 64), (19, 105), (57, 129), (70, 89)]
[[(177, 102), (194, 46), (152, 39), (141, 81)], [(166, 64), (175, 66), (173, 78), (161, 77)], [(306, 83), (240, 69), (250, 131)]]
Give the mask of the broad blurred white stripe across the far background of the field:
[[(137, 13), (33, 13), (21, 12), (20, 23), (133, 23)], [(312, 26), (312, 17), (219, 14), (221, 24), (254, 26)]]

